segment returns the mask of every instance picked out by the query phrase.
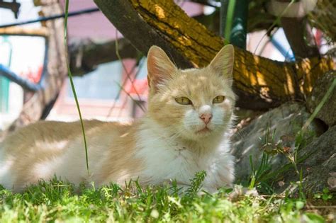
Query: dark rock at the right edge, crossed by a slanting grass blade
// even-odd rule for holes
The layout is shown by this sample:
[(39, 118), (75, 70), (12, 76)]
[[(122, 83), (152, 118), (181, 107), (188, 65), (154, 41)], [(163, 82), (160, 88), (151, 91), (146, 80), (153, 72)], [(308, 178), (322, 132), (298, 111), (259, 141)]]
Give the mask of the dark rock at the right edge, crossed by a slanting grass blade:
[[(318, 103), (322, 100), (323, 96), (336, 79), (336, 71), (327, 72), (315, 84), (313, 91), (307, 98), (307, 108), (310, 113), (313, 113)], [(332, 91), (330, 97), (327, 99), (321, 110), (318, 112), (316, 118), (323, 120), (325, 124), (330, 126), (336, 125), (336, 88)]]

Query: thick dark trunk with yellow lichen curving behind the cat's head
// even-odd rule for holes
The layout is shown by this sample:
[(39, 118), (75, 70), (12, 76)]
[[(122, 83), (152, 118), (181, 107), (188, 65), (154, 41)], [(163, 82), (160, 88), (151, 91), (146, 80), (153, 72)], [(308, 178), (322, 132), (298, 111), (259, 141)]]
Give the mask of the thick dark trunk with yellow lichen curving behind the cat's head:
[[(151, 45), (158, 45), (181, 68), (187, 67), (188, 61), (196, 67), (206, 66), (227, 43), (189, 18), (172, 0), (94, 1), (138, 50), (147, 54)], [(285, 101), (302, 100), (332, 67), (331, 59), (276, 62), (235, 47), (237, 106), (267, 109)]]

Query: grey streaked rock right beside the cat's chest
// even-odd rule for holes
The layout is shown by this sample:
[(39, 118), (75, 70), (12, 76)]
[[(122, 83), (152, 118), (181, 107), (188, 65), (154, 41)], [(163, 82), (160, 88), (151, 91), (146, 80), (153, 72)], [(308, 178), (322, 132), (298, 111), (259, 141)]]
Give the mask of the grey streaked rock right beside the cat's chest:
[[(284, 155), (293, 150), (296, 135), (303, 124), (308, 120), (310, 113), (300, 103), (285, 103), (274, 108), (236, 132), (231, 141), (231, 153), (236, 157), (236, 183), (247, 181), (251, 174), (250, 156), (254, 168), (258, 168), (263, 151), (275, 153), (271, 159), (271, 170), (279, 170), (289, 159)], [(314, 120), (308, 126), (308, 134), (300, 139), (308, 144), (323, 134), (323, 125)], [(279, 150), (282, 149), (282, 153)], [(288, 151), (286, 151), (288, 150)]]

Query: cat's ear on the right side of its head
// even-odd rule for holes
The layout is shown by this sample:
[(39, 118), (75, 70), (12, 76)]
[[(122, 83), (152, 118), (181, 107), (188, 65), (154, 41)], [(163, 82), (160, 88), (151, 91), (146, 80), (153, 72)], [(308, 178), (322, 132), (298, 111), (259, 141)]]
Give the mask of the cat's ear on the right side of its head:
[(224, 78), (228, 79), (230, 84), (232, 84), (234, 59), (235, 48), (230, 44), (225, 45), (225, 47), (215, 55), (215, 58), (213, 58), (209, 67), (211, 67), (216, 74), (223, 75)]

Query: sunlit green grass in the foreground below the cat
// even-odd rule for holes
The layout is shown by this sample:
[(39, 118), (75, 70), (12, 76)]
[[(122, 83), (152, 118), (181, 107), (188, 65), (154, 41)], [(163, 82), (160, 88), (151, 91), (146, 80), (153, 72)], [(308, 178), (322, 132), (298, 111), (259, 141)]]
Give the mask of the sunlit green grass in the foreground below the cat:
[(0, 222), (325, 222), (302, 199), (276, 195), (228, 198), (224, 188), (198, 195), (203, 173), (182, 193), (170, 186), (133, 182), (74, 190), (61, 181), (40, 182), (24, 193), (0, 188)]

